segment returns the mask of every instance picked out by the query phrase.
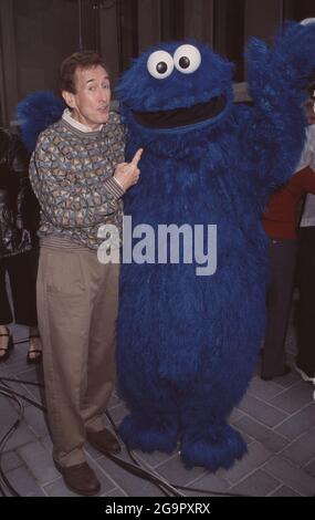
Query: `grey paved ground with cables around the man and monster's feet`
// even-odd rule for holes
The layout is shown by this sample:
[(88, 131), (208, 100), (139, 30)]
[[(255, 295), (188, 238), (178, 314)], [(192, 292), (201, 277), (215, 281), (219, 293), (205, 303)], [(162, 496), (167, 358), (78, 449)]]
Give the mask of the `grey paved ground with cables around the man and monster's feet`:
[[(15, 341), (25, 336), (25, 329), (13, 326)], [(41, 370), (25, 364), (28, 344), (17, 345), (10, 360), (0, 364), (0, 378), (42, 381)], [(288, 333), (290, 361), (294, 353), (294, 334)], [(11, 384), (17, 392), (41, 402), (38, 387)], [(249, 445), (249, 454), (230, 470), (214, 475), (201, 468), (187, 470), (175, 453), (146, 455), (138, 460), (172, 485), (202, 490), (261, 497), (309, 497), (315, 495), (315, 403), (313, 386), (296, 373), (263, 382), (254, 375), (240, 406), (231, 416)], [(115, 423), (125, 415), (124, 404), (114, 396), (109, 412)], [(0, 439), (18, 417), (17, 406), (0, 395)], [(44, 414), (31, 404), (24, 405), (24, 418), (18, 430), (2, 447), (1, 466), (7, 478), (23, 496), (72, 496), (51, 458), (51, 440)], [(135, 477), (87, 447), (87, 458), (102, 482), (102, 496), (157, 497), (162, 492), (154, 485)], [(129, 460), (126, 450), (122, 458)], [(181, 491), (187, 496), (200, 492)], [(208, 495), (203, 496), (210, 496)]]

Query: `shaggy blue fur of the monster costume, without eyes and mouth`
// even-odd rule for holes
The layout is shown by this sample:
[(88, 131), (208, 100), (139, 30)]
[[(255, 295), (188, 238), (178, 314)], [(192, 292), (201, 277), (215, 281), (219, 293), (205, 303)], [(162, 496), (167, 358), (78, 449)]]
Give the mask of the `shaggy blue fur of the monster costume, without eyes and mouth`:
[[(187, 42), (185, 42), (187, 43)], [(189, 42), (190, 43), (190, 42)], [(252, 107), (232, 103), (231, 63), (211, 49), (196, 72), (164, 79), (134, 62), (118, 87), (127, 155), (144, 148), (140, 180), (126, 196), (133, 225), (217, 225), (218, 268), (122, 266), (117, 370), (130, 414), (120, 434), (130, 448), (171, 451), (187, 467), (229, 468), (246, 451), (227, 419), (244, 395), (265, 327), (269, 278), (261, 215), (271, 191), (294, 170), (304, 143), (304, 90), (315, 73), (315, 27), (287, 23), (273, 50), (246, 49)], [(137, 113), (191, 107), (224, 95), (213, 118), (148, 127)], [(144, 238), (144, 237), (143, 237)], [(134, 238), (133, 243), (137, 243)]]

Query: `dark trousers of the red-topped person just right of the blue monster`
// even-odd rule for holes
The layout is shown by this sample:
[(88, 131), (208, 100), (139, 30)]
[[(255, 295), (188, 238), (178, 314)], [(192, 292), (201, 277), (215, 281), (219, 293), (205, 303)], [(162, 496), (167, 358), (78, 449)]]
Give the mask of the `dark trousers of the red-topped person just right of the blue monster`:
[(267, 291), (262, 376), (275, 377), (285, 368), (285, 336), (291, 311), (296, 240), (270, 239), (271, 281)]

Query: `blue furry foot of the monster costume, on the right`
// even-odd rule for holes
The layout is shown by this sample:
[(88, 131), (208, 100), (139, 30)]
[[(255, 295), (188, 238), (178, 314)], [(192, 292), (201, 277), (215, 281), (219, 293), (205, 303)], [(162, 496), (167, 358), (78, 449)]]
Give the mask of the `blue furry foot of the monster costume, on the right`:
[[(195, 438), (193, 438), (195, 437)], [(188, 468), (203, 466), (210, 471), (218, 468), (231, 468), (235, 459), (242, 458), (248, 451), (241, 435), (231, 426), (216, 427), (203, 436), (183, 435), (181, 457)]]

